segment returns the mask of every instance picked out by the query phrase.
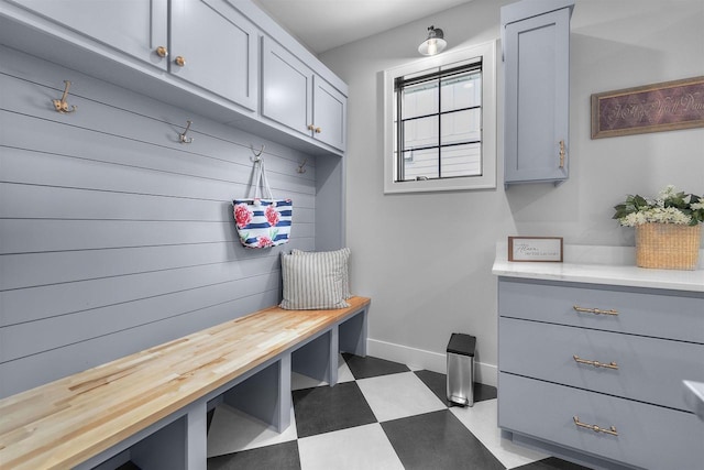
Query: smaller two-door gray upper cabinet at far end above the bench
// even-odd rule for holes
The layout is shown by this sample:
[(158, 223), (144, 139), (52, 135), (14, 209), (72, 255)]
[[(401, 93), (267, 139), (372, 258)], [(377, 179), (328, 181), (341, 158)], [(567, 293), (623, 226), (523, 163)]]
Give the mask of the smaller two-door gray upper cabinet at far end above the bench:
[(344, 151), (346, 97), (268, 37), (262, 53), (262, 116)]

